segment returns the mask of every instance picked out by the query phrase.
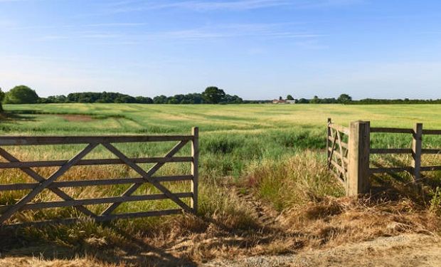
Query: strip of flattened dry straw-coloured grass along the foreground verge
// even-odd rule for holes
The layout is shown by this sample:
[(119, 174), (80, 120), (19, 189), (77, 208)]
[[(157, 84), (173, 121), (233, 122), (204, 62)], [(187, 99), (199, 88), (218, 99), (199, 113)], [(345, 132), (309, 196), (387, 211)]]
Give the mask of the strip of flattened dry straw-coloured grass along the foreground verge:
[[(138, 233), (118, 225), (100, 226), (99, 230), (90, 225), (92, 229), (87, 230), (90, 226), (80, 224), (69, 228), (71, 240), (53, 241), (52, 236), (47, 243), (12, 249), (5, 254), (6, 260), (0, 260), (0, 266), (13, 261), (12, 257), (20, 258), (14, 261), (15, 266), (191, 266), (214, 258), (298, 253), (378, 236), (439, 234), (440, 217), (420, 208), (411, 201), (328, 198), (283, 212), (271, 228), (257, 224), (232, 229), (194, 216), (170, 217), (161, 221), (161, 226)], [(56, 231), (63, 236), (68, 230)]]

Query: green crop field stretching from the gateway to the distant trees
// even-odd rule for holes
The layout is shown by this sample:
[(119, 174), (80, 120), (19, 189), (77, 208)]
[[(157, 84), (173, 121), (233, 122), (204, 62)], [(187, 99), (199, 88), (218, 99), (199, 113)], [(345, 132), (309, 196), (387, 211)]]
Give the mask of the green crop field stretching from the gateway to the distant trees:
[[(202, 179), (234, 177), (236, 182), (262, 162), (283, 161), (305, 151), (323, 161), (328, 117), (346, 126), (353, 120), (370, 120), (373, 127), (410, 128), (415, 122), (423, 122), (425, 129), (441, 129), (441, 105), (46, 104), (5, 105), (5, 110), (9, 113), (1, 120), (1, 135), (189, 134), (191, 127), (198, 126)], [(411, 142), (409, 135), (377, 134), (372, 139), (373, 147), (410, 147)], [(425, 147), (440, 143), (438, 136), (427, 137), (424, 142)], [(132, 144), (126, 145), (124, 152), (161, 156), (171, 145)], [(21, 159), (30, 160), (54, 155), (68, 158), (79, 149), (60, 147), (53, 147), (54, 151), (47, 146), (33, 147), (31, 152), (26, 147), (13, 150)], [(103, 153), (105, 150), (97, 148), (92, 155)], [(178, 169), (188, 172), (185, 164), (166, 167), (162, 172)], [(283, 204), (278, 206), (281, 209)]]

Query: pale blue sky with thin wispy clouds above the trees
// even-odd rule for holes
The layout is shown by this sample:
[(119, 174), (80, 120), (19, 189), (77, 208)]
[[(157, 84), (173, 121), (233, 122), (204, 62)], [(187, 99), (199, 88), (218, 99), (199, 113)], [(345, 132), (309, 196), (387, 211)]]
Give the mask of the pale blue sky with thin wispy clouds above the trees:
[(438, 0), (0, 0), (0, 87), (441, 98)]

